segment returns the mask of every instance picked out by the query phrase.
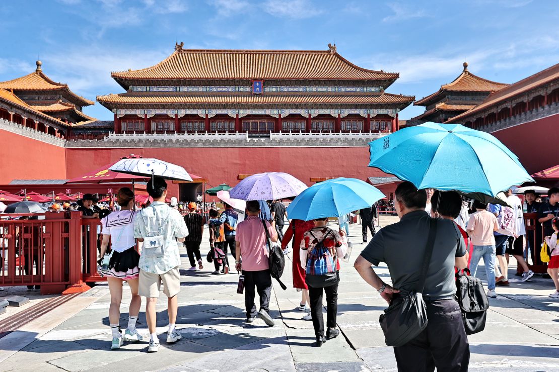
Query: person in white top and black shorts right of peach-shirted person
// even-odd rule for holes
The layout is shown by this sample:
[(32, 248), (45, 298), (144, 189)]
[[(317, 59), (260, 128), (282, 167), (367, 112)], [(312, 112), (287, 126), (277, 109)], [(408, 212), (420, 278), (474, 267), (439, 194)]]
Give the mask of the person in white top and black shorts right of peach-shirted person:
[(524, 236), (526, 228), (524, 226), (524, 213), (522, 211), (522, 201), (513, 194), (512, 190), (505, 192), (506, 202), (513, 209), (514, 219), (514, 235), (509, 236), (508, 245), (506, 247), (506, 264), (509, 264), (509, 257), (513, 255), (517, 259), (518, 264), (522, 267), (522, 281), (525, 282), (534, 276), (534, 272), (528, 268), (528, 264), (524, 259)]

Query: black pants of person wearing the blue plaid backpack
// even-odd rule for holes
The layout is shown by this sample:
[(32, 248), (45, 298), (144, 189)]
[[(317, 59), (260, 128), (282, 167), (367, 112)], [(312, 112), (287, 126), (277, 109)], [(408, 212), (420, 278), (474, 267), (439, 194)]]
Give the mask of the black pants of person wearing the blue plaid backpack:
[(324, 336), (324, 318), (322, 316), (322, 294), (326, 293), (326, 327), (336, 327), (336, 316), (338, 313), (338, 282), (324, 288), (309, 286), (309, 302), (311, 304), (312, 326), (315, 328), (315, 336)]

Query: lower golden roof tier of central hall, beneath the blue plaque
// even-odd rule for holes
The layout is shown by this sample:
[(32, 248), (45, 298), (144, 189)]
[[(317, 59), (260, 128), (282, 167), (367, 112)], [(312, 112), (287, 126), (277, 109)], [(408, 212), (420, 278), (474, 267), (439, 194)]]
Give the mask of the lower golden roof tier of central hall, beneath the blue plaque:
[(97, 96), (97, 101), (113, 104), (382, 104), (382, 103), (411, 103), (414, 96), (382, 94), (323, 94), (323, 95), (181, 95), (157, 94), (146, 96), (142, 93), (122, 93)]

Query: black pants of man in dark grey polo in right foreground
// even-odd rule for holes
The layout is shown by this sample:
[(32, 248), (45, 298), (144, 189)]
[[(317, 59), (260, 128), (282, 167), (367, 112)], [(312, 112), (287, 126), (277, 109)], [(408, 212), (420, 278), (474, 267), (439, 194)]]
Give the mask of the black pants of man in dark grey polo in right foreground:
[(427, 328), (414, 340), (394, 348), (399, 371), (467, 371), (470, 345), (458, 303), (439, 299), (427, 303)]

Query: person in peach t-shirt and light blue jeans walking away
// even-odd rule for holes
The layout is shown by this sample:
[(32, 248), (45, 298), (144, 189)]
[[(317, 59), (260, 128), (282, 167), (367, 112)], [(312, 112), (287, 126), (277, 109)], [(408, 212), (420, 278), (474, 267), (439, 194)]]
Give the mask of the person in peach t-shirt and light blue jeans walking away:
[[(487, 204), (481, 201), (473, 201), (473, 207), (476, 209), (468, 220), (466, 227), (468, 234), (473, 243), (472, 259), (470, 260), (470, 273), (472, 277), (476, 276), (477, 265), (480, 259), (484, 258), (485, 273), (487, 274), (487, 297), (495, 298), (495, 282), (505, 281), (503, 276), (496, 278), (495, 276), (495, 231), (499, 230), (497, 218), (490, 211), (487, 211)], [(505, 284), (509, 282), (506, 281)]]

